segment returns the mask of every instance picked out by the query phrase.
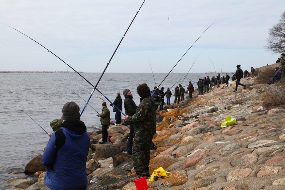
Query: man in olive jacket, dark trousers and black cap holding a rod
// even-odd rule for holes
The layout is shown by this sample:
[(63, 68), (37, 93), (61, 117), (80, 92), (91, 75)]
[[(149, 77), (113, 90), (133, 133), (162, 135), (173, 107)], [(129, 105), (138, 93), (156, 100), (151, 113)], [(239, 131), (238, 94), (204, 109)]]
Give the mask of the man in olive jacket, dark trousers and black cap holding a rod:
[(110, 111), (107, 108), (106, 102), (102, 103), (102, 113), (98, 114), (100, 117), (100, 122), (102, 125), (102, 141), (101, 144), (107, 143), (107, 137), (108, 137), (108, 126), (110, 125)]

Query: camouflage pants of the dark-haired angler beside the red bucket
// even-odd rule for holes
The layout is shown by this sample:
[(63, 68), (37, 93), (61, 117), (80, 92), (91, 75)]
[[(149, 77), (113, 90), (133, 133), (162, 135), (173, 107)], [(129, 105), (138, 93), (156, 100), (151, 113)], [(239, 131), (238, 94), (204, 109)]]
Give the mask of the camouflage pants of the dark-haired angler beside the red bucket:
[(149, 156), (151, 148), (151, 132), (136, 131), (133, 141), (133, 163), (138, 177), (149, 177)]

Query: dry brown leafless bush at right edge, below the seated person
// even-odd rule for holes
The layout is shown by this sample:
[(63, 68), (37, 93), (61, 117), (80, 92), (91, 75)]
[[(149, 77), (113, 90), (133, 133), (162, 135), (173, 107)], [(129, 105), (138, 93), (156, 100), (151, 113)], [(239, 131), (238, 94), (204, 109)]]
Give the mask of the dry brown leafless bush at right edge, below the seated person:
[(265, 89), (265, 92), (261, 93), (260, 99), (266, 106), (285, 105), (285, 79), (275, 83), (273, 88)]

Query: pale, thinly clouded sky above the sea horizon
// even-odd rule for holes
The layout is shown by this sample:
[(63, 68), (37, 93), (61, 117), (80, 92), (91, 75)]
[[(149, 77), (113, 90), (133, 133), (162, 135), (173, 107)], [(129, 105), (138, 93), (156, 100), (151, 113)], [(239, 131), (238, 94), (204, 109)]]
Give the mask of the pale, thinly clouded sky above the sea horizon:
[[(142, 0), (1, 0), (0, 71), (103, 72)], [(273, 64), (284, 0), (146, 0), (106, 72), (233, 72)], [(12, 28), (10, 28), (11, 26)], [(211, 60), (213, 61), (213, 64)], [(151, 65), (151, 66), (150, 66)]]

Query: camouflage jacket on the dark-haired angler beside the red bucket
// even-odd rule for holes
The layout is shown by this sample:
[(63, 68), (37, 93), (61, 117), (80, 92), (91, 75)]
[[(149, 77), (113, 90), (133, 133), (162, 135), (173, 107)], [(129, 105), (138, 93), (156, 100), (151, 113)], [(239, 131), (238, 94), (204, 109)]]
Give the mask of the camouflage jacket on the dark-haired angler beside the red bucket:
[(156, 133), (156, 112), (155, 109), (159, 102), (154, 101), (153, 97), (140, 98), (141, 102), (138, 105), (136, 113), (128, 117), (129, 122), (134, 123), (134, 129), (139, 134)]

